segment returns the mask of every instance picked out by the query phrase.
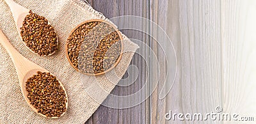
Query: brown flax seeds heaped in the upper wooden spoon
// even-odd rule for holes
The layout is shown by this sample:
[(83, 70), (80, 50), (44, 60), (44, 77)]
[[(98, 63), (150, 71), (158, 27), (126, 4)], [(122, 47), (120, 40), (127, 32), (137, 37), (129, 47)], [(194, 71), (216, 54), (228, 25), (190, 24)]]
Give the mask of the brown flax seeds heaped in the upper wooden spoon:
[(36, 54), (49, 56), (57, 50), (57, 35), (45, 17), (30, 10), (20, 30), (23, 42)]

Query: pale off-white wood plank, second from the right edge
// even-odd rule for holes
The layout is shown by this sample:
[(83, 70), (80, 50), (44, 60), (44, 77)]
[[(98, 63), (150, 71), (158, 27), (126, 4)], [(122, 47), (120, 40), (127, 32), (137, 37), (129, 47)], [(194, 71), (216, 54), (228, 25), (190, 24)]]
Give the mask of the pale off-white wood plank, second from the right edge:
[(220, 1), (182, 0), (179, 7), (182, 109), (204, 114), (221, 104)]

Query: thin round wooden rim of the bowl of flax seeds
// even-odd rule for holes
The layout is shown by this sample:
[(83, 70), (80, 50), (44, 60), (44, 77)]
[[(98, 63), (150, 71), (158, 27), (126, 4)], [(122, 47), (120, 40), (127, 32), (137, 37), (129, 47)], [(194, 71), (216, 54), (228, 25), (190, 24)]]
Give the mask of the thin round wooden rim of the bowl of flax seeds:
[(119, 58), (116, 60), (115, 64), (113, 66), (111, 66), (110, 68), (108, 68), (108, 70), (104, 70), (104, 72), (100, 72), (100, 73), (85, 73), (85, 72), (82, 72), (80, 71), (78, 68), (76, 68), (76, 66), (73, 65), (73, 63), (71, 62), (69, 56), (68, 56), (68, 40), (66, 42), (66, 45), (65, 45), (65, 51), (66, 51), (66, 56), (67, 56), (67, 59), (68, 59), (68, 62), (70, 63), (70, 65), (75, 69), (77, 70), (77, 72), (80, 72), (81, 74), (85, 74), (85, 75), (102, 75), (102, 74), (106, 74), (107, 72), (109, 72), (110, 70), (112, 70), (113, 68), (115, 68), (116, 65), (118, 65), (118, 63), (120, 62), (121, 58), (122, 58), (122, 55), (123, 55), (123, 52), (124, 52), (124, 42), (123, 42), (123, 38), (122, 38), (122, 35), (120, 33), (120, 31), (111, 23), (107, 22), (106, 20), (100, 20), (100, 19), (92, 19), (92, 20), (86, 20), (84, 22), (82, 22), (81, 24), (79, 24), (78, 26), (76, 26), (74, 29), (72, 29), (72, 31), (70, 32), (70, 34), (68, 35), (68, 38), (73, 34), (73, 32), (80, 26), (82, 26), (83, 24), (86, 24), (88, 22), (103, 22), (105, 24), (108, 24), (109, 26), (113, 27), (113, 29), (115, 29), (116, 33), (118, 33), (119, 35), (119, 38), (120, 38), (120, 42), (121, 42), (121, 51), (120, 51), (120, 55), (119, 55)]

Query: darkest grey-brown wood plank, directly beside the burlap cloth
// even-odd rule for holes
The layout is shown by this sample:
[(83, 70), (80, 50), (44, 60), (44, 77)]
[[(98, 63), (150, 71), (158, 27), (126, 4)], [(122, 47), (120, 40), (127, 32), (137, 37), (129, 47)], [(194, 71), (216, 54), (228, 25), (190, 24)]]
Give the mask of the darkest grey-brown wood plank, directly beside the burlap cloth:
[[(149, 6), (148, 1), (146, 0), (89, 0), (88, 3), (91, 4), (91, 6), (95, 10), (103, 13), (108, 18), (117, 17), (121, 15), (136, 15), (146, 18), (148, 17)], [(129, 24), (129, 22), (127, 22), (127, 24)], [(140, 33), (139, 31), (122, 30), (122, 33), (124, 33), (128, 38), (134, 38), (141, 40), (142, 42), (148, 43), (148, 36), (143, 33)], [(136, 79), (136, 81), (130, 86), (116, 86), (116, 88), (113, 89), (111, 94), (118, 96), (131, 95), (132, 93), (135, 93), (136, 91), (142, 88), (142, 86), (145, 83), (145, 61), (143, 62), (143, 59), (141, 59), (141, 57), (138, 54), (135, 54), (134, 57), (132, 58), (131, 65), (135, 65), (138, 67), (140, 74), (138, 79)], [(128, 74), (124, 75), (124, 77), (127, 76)], [(136, 100), (141, 100), (141, 98), (138, 97)], [(108, 104), (111, 103), (117, 105), (130, 105), (132, 104), (133, 101), (134, 99), (129, 100), (129, 102), (121, 101), (116, 103), (115, 101), (113, 101), (113, 99), (108, 97), (104, 102), (108, 102)], [(148, 102), (149, 100), (145, 100), (141, 104), (128, 109), (113, 109), (100, 105), (99, 109), (97, 109), (97, 111), (93, 114), (90, 120), (92, 120), (92, 123), (149, 123)]]

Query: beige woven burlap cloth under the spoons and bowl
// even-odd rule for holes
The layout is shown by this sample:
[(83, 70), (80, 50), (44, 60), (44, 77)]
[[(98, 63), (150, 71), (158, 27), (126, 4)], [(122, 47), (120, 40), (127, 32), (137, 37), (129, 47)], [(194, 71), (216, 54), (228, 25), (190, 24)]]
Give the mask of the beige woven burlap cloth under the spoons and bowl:
[[(40, 57), (30, 52), (21, 42), (10, 8), (0, 0), (0, 29), (24, 57), (46, 68), (63, 83), (68, 95), (68, 110), (58, 119), (47, 119), (29, 108), (22, 97), (15, 66), (0, 45), (0, 123), (84, 123), (124, 75), (138, 45), (124, 36), (124, 55), (115, 72), (93, 77), (79, 74), (65, 56), (65, 41), (70, 31), (90, 19), (105, 19), (82, 0), (16, 0), (16, 3), (46, 17), (55, 27), (59, 38), (58, 52)], [(129, 52), (125, 52), (129, 51)]]

